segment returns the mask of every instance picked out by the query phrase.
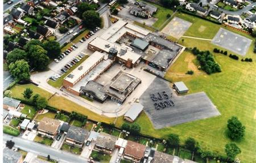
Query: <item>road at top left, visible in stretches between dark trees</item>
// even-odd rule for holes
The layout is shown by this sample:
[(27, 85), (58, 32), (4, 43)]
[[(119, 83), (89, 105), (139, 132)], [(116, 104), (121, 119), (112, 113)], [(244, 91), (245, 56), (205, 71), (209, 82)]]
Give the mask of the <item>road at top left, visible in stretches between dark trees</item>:
[[(108, 4), (105, 4), (105, 5), (103, 5), (101, 8), (99, 8), (99, 9), (97, 10), (97, 12), (98, 12), (98, 13), (100, 14), (100, 16), (101, 16), (101, 15), (104, 14), (104, 12), (107, 11), (107, 10), (108, 10)], [(73, 31), (74, 31), (73, 33), (79, 32), (79, 31), (80, 31), (80, 29), (79, 29), (79, 26), (80, 26), (80, 25), (81, 25), (81, 23), (78, 24), (78, 25), (76, 25), (75, 27), (69, 29), (69, 31), (73, 30)], [(68, 33), (65, 33), (63, 36), (57, 38), (56, 41), (58, 41), (58, 42), (60, 43), (60, 45), (63, 45), (65, 42), (68, 42), (69, 39), (72, 38), (72, 36), (73, 36), (73, 35), (68, 35)]]

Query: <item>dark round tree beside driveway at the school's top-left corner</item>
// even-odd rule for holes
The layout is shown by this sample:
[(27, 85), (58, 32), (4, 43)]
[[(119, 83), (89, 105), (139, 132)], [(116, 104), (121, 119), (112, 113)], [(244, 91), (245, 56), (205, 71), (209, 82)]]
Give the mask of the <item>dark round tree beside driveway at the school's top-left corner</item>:
[(100, 14), (96, 11), (85, 11), (82, 14), (82, 20), (85, 25), (85, 27), (89, 29), (93, 29), (95, 27), (100, 27), (101, 26), (101, 18)]

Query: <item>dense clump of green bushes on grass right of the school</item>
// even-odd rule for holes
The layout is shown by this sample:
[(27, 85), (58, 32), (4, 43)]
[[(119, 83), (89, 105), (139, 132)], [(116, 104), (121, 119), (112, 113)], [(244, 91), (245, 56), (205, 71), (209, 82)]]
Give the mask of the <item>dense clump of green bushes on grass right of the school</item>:
[(207, 72), (207, 74), (221, 72), (220, 65), (214, 61), (213, 55), (209, 50), (200, 51), (195, 47), (192, 49), (192, 53), (196, 55), (197, 60), (200, 62), (201, 69)]

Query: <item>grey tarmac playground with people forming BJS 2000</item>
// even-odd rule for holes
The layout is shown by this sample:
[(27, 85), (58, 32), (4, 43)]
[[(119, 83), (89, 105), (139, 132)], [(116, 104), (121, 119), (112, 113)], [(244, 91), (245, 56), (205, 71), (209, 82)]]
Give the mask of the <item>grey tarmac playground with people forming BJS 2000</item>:
[[(163, 92), (166, 92), (168, 99), (164, 98)], [(154, 93), (155, 97), (162, 96), (163, 100), (153, 101), (151, 93)], [(167, 104), (164, 101), (168, 100), (172, 100), (174, 106), (155, 109), (155, 104), (160, 104), (160, 102)], [(152, 82), (151, 86), (139, 98), (139, 101), (157, 129), (220, 115), (220, 112), (204, 92), (177, 96), (170, 88), (170, 83), (160, 78), (156, 78)]]

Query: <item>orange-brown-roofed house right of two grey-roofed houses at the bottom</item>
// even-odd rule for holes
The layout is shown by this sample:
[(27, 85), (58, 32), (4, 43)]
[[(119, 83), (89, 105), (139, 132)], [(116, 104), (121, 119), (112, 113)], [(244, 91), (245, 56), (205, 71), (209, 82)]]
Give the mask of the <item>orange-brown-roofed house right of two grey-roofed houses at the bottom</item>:
[(141, 162), (144, 157), (145, 150), (145, 145), (128, 140), (123, 157), (133, 162)]

